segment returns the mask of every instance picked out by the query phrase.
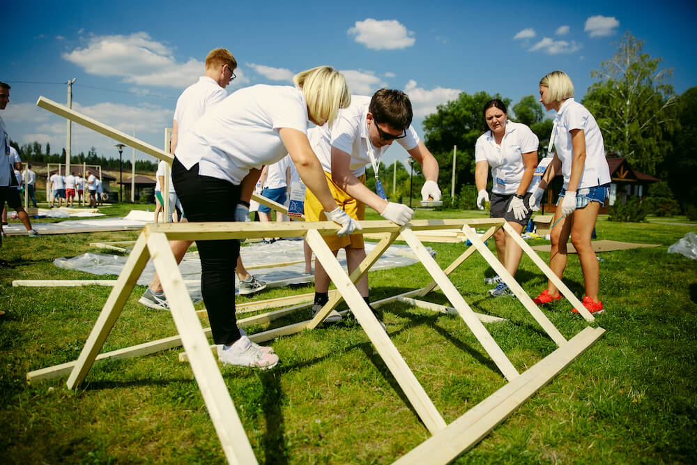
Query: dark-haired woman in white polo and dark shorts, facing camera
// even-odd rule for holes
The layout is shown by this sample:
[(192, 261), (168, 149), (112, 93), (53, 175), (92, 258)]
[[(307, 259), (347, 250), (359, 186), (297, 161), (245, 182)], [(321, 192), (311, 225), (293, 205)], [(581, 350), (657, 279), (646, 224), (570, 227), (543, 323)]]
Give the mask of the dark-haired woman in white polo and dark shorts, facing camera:
[[(487, 177), (491, 167), (493, 188), (491, 189), (491, 208), (489, 218), (505, 218), (508, 224), (521, 234), (530, 221), (531, 212), (526, 207), (530, 194), (530, 181), (537, 165), (537, 145), (539, 140), (528, 126), (508, 121), (506, 105), (494, 98), (484, 105), (484, 121), (489, 130), (477, 139), (475, 145), (475, 183), (477, 184), (477, 207), (482, 210), (482, 201), (489, 200)], [(503, 229), (493, 235), (496, 241), (498, 261), (508, 273), (516, 274), (523, 255), (521, 247), (512, 240), (506, 240)], [(512, 295), (500, 276), (487, 277), (486, 284), (496, 284), (491, 296)]]

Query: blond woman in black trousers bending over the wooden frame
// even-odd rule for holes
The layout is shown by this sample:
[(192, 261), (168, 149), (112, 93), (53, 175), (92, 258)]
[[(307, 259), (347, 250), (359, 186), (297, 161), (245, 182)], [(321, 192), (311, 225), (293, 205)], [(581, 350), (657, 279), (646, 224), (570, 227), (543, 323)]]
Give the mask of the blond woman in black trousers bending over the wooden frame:
[[(188, 220), (247, 220), (261, 167), (289, 153), (302, 181), (330, 212), (328, 219), (342, 224), (337, 234), (360, 229), (332, 198), (307, 139), (308, 120), (316, 125), (332, 122), (339, 109), (351, 102), (344, 77), (321, 66), (298, 73), (293, 82), (295, 87), (259, 84), (240, 89), (208, 109), (191, 130), (180, 135), (172, 178)], [(254, 344), (237, 327), (233, 289), (239, 241), (196, 243), (201, 257), (201, 294), (219, 360), (274, 367), (278, 356), (273, 349)]]

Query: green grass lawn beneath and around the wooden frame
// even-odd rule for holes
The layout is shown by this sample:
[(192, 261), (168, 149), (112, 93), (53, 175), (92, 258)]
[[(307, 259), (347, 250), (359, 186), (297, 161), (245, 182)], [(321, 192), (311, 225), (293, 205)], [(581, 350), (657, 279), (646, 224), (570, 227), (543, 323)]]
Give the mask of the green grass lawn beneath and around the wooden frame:
[[(130, 207), (105, 212), (114, 208), (119, 216)], [(123, 211), (116, 214), (118, 209)], [(418, 211), (416, 218), (485, 216)], [(689, 231), (697, 227), (601, 218), (599, 239), (659, 247), (599, 255), (606, 312), (597, 324), (607, 330), (604, 337), (456, 463), (694, 463), (697, 261), (667, 253), (668, 245)], [(91, 250), (91, 242), (136, 237), (126, 231), (3, 240), (0, 310), (7, 313), (0, 318), (1, 463), (224, 462), (191, 369), (178, 362), (181, 350), (97, 363), (77, 392), (66, 389), (65, 378), (25, 381), (28, 371), (77, 358), (109, 289), (13, 288), (12, 280), (95, 279), (56, 268), (52, 260), (100, 252)], [(459, 244), (427, 245), (436, 250), (442, 267), (464, 250)], [(487, 297), (482, 278), (489, 275), (491, 268), (475, 256), (451, 279), (475, 312), (508, 319), (487, 328), (522, 372), (556, 345), (515, 298)], [(516, 277), (530, 296), (546, 283), (526, 258)], [(377, 300), (422, 287), (429, 275), (416, 264), (371, 273), (370, 282)], [(583, 296), (574, 255), (565, 282)], [(273, 289), (254, 300), (312, 290)], [(176, 334), (167, 312), (137, 303), (142, 291), (136, 287), (105, 351)], [(446, 303), (440, 292), (426, 299)], [(496, 365), (459, 317), (402, 303), (383, 310), (390, 338), (446, 422), (504, 386)], [(567, 338), (586, 326), (569, 313), (568, 303), (543, 310)], [(272, 327), (309, 316), (309, 310), (298, 312)], [(390, 463), (429, 437), (360, 326), (323, 327), (279, 337), (271, 345), (281, 358), (273, 370), (222, 368), (260, 463)]]

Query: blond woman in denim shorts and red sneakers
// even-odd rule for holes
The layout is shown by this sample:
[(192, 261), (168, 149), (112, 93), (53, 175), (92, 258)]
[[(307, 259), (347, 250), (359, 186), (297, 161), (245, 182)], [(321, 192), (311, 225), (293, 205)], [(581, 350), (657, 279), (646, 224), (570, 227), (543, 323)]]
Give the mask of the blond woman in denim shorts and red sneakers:
[[(562, 71), (553, 71), (539, 82), (539, 101), (547, 110), (556, 110), (552, 130), (554, 158), (542, 176), (538, 188), (530, 197), (530, 208), (537, 209), (542, 192), (559, 169), (564, 186), (559, 193), (556, 224), (551, 231), (549, 268), (562, 277), (567, 264), (567, 240), (579, 254), (585, 297), (583, 305), (591, 313), (603, 311), (598, 300), (599, 267), (590, 236), (595, 228), (598, 211), (605, 204), (610, 185), (610, 168), (605, 159), (603, 135), (593, 115), (574, 100), (574, 84)], [(562, 220), (563, 218), (563, 220)], [(549, 281), (535, 303), (559, 300), (559, 290)], [(577, 310), (573, 309), (576, 313)]]

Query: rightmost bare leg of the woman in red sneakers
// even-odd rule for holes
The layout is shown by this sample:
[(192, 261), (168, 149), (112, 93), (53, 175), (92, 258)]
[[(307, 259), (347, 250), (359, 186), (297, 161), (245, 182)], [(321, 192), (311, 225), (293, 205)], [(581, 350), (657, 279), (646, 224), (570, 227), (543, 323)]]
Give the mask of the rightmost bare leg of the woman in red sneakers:
[(571, 232), (571, 241), (579, 253), (579, 261), (581, 262), (581, 270), (583, 270), (583, 282), (585, 283), (585, 295), (592, 298), (593, 302), (598, 302), (598, 280), (600, 268), (598, 259), (595, 256), (590, 236), (595, 221), (598, 218), (600, 204), (590, 202), (583, 208), (574, 211), (574, 227)]

